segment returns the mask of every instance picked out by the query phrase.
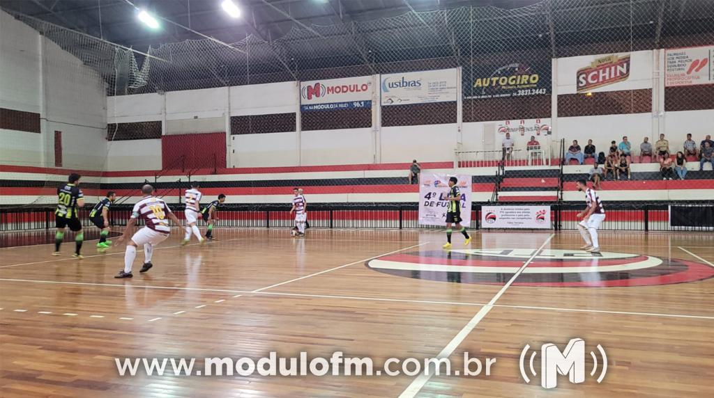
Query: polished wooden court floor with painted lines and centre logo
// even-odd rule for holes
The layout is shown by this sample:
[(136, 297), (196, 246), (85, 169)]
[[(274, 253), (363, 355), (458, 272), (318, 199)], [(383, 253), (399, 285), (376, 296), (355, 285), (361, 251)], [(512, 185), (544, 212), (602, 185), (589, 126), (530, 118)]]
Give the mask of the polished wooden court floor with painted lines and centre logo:
[[(124, 247), (83, 261), (0, 249), (0, 397), (713, 397), (713, 234), (216, 230), (115, 279)], [(598, 383), (526, 384), (526, 345), (585, 340)], [(478, 376), (120, 376), (114, 358), (496, 358)], [(533, 351), (533, 352), (535, 352)], [(541, 355), (538, 355), (540, 358)], [(377, 365), (375, 365), (377, 367)], [(597, 376), (603, 369), (600, 367)]]

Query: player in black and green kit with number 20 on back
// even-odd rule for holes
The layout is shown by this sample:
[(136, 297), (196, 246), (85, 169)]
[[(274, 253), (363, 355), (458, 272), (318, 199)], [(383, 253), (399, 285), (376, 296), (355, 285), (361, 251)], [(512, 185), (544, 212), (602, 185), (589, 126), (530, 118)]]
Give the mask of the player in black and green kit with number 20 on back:
[(84, 194), (79, 189), (80, 178), (79, 174), (69, 174), (69, 182), (57, 188), (57, 209), (54, 211), (57, 232), (54, 236), (53, 256), (59, 256), (59, 246), (64, 239), (64, 229), (69, 226), (71, 231), (77, 233), (74, 237), (76, 248), (72, 256), (79, 260), (82, 259), (80, 251), (82, 241), (84, 241), (84, 233), (82, 232), (82, 224), (79, 221), (79, 209), (84, 206)]

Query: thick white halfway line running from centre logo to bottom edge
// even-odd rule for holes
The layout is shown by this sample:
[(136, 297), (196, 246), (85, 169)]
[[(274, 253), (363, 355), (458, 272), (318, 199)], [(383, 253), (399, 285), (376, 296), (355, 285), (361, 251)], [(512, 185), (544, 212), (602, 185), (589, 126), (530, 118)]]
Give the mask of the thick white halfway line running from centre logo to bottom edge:
[[(439, 352), (437, 356), (438, 358), (448, 358), (451, 356), (451, 354), (453, 354), (454, 350), (456, 350), (456, 347), (458, 347), (458, 345), (460, 345), (463, 340), (466, 340), (466, 337), (469, 335), (469, 333), (471, 333), (471, 331), (476, 328), (476, 325), (478, 325), (478, 323), (481, 322), (481, 320), (486, 317), (486, 315), (493, 309), (493, 304), (496, 303), (496, 300), (498, 300), (498, 298), (501, 298), (501, 295), (503, 295), (503, 293), (506, 293), (506, 290), (511, 287), (513, 281), (516, 281), (516, 278), (521, 275), (523, 270), (526, 269), (526, 267), (528, 266), (528, 264), (531, 263), (531, 261), (533, 261), (535, 256), (538, 256), (538, 253), (540, 253), (540, 251), (543, 250), (545, 245), (550, 242), (550, 239), (553, 239), (553, 236), (555, 236), (555, 234), (550, 234), (550, 236), (548, 236), (548, 239), (545, 239), (545, 242), (540, 245), (538, 250), (533, 252), (533, 255), (528, 258), (526, 263), (523, 263), (523, 266), (521, 266), (521, 268), (518, 268), (518, 271), (516, 271), (516, 273), (511, 276), (511, 279), (509, 279), (508, 282), (503, 285), (501, 290), (498, 290), (498, 293), (496, 293), (496, 295), (491, 298), (491, 301), (481, 307), (481, 310), (478, 310), (478, 313), (476, 313), (476, 315), (473, 315), (473, 318), (471, 318), (471, 320), (468, 321), (468, 323), (456, 334), (456, 336), (454, 336), (451, 341), (448, 342), (446, 347), (443, 347), (443, 350), (441, 350), (441, 352)], [(418, 394), (418, 392), (422, 389), (422, 387), (424, 387), (424, 384), (426, 384), (426, 382), (431, 379), (431, 376), (431, 370), (428, 369), (426, 370), (426, 372), (421, 373), (418, 377), (416, 377), (416, 379), (412, 380), (412, 382), (409, 384), (408, 387), (406, 387), (406, 389), (404, 389), (404, 391), (399, 395), (399, 398), (415, 397), (416, 394)]]

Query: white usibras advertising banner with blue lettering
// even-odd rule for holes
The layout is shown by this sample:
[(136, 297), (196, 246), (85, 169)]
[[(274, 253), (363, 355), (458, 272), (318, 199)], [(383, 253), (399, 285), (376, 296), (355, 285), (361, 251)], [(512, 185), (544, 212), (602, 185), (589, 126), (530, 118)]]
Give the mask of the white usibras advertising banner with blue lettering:
[(422, 70), (381, 76), (383, 106), (456, 101), (456, 69)]

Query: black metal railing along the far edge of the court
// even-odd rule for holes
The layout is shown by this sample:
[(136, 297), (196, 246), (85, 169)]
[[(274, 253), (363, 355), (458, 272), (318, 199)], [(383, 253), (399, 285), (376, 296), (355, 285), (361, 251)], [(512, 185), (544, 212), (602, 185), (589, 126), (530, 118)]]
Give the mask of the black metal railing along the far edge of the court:
[[(533, 203), (535, 204), (535, 203)], [(533, 205), (531, 204), (531, 205)], [(529, 204), (518, 204), (526, 206)], [(583, 210), (580, 203), (548, 204), (553, 214), (551, 229), (576, 229), (575, 214)], [(183, 206), (173, 206), (183, 219)], [(81, 209), (82, 225), (92, 226), (89, 208)], [(479, 229), (481, 204), (473, 204), (471, 229)], [(217, 227), (228, 228), (291, 228), (293, 217), (287, 205), (233, 204), (218, 211)], [(712, 203), (614, 203), (606, 205), (607, 217), (603, 231), (712, 231)], [(124, 226), (131, 216), (131, 206), (113, 206), (109, 212), (112, 226)], [(671, 220), (670, 220), (671, 219)], [(418, 222), (418, 204), (311, 204), (308, 223), (313, 228), (326, 229), (439, 229)], [(139, 225), (141, 225), (139, 221)], [(203, 224), (203, 221), (199, 221)], [(54, 209), (0, 209), (0, 232), (54, 229)]]

